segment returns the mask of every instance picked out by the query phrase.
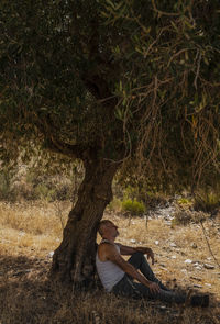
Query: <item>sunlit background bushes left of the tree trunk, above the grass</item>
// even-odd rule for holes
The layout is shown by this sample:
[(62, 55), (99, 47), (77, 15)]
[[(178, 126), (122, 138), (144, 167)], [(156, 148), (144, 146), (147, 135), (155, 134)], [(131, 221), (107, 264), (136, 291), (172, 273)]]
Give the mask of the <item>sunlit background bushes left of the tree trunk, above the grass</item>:
[[(64, 168), (62, 175), (55, 165), (45, 174), (45, 168), (20, 165), (14, 170), (2, 168), (0, 172), (0, 200), (25, 201), (76, 200), (84, 170), (80, 164), (74, 168)], [(62, 168), (61, 168), (62, 170)]]

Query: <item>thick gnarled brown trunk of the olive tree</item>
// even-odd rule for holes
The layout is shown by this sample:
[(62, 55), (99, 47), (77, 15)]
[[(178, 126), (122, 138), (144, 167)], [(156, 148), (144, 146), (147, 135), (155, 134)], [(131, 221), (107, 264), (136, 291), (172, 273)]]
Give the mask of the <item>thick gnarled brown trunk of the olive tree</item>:
[(96, 271), (96, 233), (107, 204), (112, 200), (112, 179), (119, 164), (103, 159), (85, 163), (85, 179), (78, 200), (55, 250), (52, 276), (62, 281), (82, 283)]

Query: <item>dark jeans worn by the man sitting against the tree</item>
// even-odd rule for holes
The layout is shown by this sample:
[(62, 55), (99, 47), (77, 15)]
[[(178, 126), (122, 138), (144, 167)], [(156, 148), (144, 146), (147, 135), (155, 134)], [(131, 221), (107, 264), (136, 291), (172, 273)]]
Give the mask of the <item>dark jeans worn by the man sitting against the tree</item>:
[(117, 295), (124, 295), (135, 299), (152, 299), (161, 300), (168, 303), (184, 303), (186, 300), (185, 294), (179, 294), (168, 290), (154, 275), (144, 255), (141, 252), (134, 253), (128, 260), (132, 266), (140, 270), (143, 276), (150, 281), (158, 283), (160, 292), (152, 293), (151, 290), (142, 284), (134, 282), (133, 279), (124, 275), (124, 277), (113, 287), (112, 292)]

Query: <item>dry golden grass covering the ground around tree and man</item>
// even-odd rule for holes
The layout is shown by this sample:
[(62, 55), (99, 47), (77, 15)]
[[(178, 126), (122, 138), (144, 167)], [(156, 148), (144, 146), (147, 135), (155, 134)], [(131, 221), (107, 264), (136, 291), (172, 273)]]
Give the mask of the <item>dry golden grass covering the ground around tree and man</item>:
[[(219, 323), (220, 269), (210, 256), (199, 224), (170, 227), (165, 221), (155, 219), (146, 226), (141, 217), (130, 221), (118, 214), (105, 215), (119, 225), (120, 243), (153, 248), (157, 260), (153, 266), (154, 272), (170, 288), (196, 290), (194, 286), (200, 284), (197, 290), (210, 293), (208, 310), (129, 301), (99, 289), (72, 292), (48, 280), (51, 252), (61, 243), (69, 210), (68, 202), (0, 203), (1, 324)], [(212, 252), (220, 260), (218, 222), (218, 217), (216, 223), (207, 220), (205, 228)], [(198, 265), (212, 264), (215, 269), (198, 270), (194, 264), (185, 264), (186, 259)]]

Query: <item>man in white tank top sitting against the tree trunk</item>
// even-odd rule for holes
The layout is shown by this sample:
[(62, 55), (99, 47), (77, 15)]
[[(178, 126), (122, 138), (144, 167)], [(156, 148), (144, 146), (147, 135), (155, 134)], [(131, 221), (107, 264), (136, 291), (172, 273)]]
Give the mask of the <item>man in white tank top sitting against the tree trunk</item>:
[[(130, 247), (114, 243), (119, 235), (118, 226), (111, 221), (100, 222), (98, 232), (102, 241), (98, 247), (96, 266), (105, 289), (114, 294), (132, 298), (147, 298), (168, 303), (188, 302), (186, 294), (179, 294), (167, 289), (154, 275), (144, 255), (152, 259), (154, 253), (148, 247)], [(131, 255), (125, 261), (121, 255)], [(138, 271), (140, 270), (140, 271)], [(135, 281), (133, 281), (135, 279)], [(208, 306), (209, 297), (190, 297), (191, 305)]]

